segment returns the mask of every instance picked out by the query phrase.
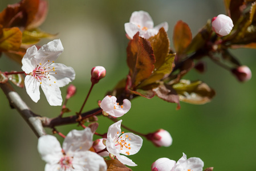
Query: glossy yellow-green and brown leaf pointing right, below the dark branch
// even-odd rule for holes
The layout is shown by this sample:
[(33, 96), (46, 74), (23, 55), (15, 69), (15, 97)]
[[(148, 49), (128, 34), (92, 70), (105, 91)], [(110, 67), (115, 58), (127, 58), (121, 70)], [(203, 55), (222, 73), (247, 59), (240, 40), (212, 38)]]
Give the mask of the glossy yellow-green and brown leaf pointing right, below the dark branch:
[(191, 104), (208, 103), (215, 95), (214, 89), (201, 81), (180, 80), (180, 83), (172, 87), (178, 93), (180, 101)]

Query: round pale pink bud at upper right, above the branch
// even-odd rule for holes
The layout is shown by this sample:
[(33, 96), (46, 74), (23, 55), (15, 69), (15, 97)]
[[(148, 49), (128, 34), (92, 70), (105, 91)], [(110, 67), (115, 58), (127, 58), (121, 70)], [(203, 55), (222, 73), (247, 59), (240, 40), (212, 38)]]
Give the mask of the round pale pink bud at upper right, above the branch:
[(212, 19), (212, 29), (217, 35), (225, 36), (230, 33), (233, 28), (233, 21), (230, 17), (220, 14)]

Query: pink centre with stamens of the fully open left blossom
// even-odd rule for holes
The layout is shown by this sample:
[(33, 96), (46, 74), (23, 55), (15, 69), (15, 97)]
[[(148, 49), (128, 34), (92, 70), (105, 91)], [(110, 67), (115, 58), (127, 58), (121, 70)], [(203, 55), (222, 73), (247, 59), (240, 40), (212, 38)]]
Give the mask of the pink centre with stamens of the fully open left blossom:
[[(33, 76), (36, 80), (38, 80), (38, 82), (40, 82), (40, 84), (42, 84), (42, 79), (48, 79), (51, 80), (50, 75), (51, 74), (57, 74), (57, 72), (52, 72), (55, 71), (54, 67), (50, 67), (50, 65), (52, 63), (54, 63), (54, 61), (52, 61), (52, 63), (48, 64), (50, 62), (50, 60), (48, 60), (48, 62), (42, 64), (39, 63), (39, 65), (36, 66), (36, 68), (30, 72), (29, 75)], [(56, 82), (54, 82), (56, 83)], [(50, 84), (51, 86), (51, 84)]]

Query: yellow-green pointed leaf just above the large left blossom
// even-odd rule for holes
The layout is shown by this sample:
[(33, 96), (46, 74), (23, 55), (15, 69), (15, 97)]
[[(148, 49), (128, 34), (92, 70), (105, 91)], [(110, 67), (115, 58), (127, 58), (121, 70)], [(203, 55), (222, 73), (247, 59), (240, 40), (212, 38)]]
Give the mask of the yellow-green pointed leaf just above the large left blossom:
[(23, 44), (36, 44), (42, 38), (55, 38), (56, 34), (48, 34), (46, 32), (40, 31), (38, 28), (31, 30), (24, 30), (22, 34)]

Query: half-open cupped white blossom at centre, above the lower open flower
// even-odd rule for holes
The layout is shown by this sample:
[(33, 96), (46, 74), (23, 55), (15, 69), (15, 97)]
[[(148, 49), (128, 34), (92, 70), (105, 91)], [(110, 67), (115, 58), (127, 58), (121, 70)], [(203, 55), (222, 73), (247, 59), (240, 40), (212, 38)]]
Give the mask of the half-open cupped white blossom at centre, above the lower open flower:
[(116, 103), (115, 96), (105, 96), (100, 103), (100, 108), (103, 110), (103, 114), (111, 115), (113, 117), (121, 117), (131, 109), (131, 101), (128, 99), (123, 100), (123, 104)]

